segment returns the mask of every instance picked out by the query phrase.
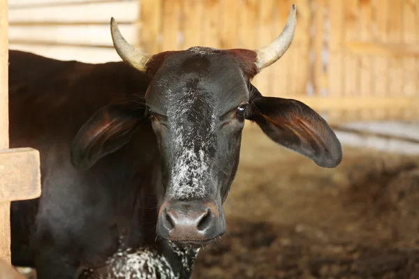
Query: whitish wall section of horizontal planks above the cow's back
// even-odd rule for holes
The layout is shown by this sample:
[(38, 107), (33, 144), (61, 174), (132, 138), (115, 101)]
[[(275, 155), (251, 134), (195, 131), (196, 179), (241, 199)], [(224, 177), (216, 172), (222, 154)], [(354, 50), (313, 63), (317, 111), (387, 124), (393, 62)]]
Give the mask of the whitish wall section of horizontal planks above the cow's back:
[(120, 61), (110, 17), (138, 45), (139, 14), (138, 0), (10, 0), (10, 49), (90, 63)]

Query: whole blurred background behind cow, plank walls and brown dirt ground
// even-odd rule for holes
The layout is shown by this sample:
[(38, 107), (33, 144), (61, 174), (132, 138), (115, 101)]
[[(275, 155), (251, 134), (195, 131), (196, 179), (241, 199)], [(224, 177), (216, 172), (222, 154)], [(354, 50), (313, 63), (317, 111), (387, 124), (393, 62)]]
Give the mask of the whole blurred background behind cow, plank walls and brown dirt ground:
[(253, 84), (321, 113), (344, 160), (322, 169), (247, 124), (228, 232), (194, 278), (419, 278), (419, 0), (9, 0), (9, 44), (119, 61), (115, 17), (153, 54), (255, 49), (293, 3), (293, 44)]

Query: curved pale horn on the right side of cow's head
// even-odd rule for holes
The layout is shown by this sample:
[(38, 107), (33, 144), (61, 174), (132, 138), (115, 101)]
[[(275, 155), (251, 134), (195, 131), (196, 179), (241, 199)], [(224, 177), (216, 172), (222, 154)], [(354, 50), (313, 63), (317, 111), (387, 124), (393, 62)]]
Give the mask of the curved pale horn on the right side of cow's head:
[(256, 67), (259, 71), (272, 65), (272, 63), (280, 59), (286, 50), (288, 50), (288, 47), (291, 45), (294, 38), (296, 23), (297, 13), (295, 11), (295, 5), (293, 4), (288, 15), (288, 20), (281, 34), (279, 34), (279, 36), (269, 45), (265, 45), (265, 47), (261, 47), (256, 50), (256, 53), (258, 54)]

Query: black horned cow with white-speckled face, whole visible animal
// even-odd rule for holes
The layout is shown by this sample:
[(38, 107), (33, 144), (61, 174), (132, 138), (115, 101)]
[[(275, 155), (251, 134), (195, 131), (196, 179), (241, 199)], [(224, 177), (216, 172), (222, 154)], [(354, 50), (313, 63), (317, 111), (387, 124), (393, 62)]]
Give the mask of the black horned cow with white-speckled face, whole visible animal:
[(13, 264), (38, 279), (190, 278), (200, 248), (226, 232), (246, 120), (337, 167), (341, 144), (319, 114), (251, 84), (288, 50), (295, 24), (293, 5), (258, 50), (147, 54), (112, 17), (122, 61), (10, 50), (10, 146), (40, 151), (42, 179), (40, 198), (11, 205)]

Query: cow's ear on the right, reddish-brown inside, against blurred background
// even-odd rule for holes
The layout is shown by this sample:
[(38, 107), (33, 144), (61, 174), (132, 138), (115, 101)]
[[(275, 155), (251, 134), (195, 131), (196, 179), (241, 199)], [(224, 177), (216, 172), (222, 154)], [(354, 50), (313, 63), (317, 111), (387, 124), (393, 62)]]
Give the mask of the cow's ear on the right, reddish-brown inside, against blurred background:
[(254, 121), (277, 144), (306, 156), (321, 167), (341, 163), (341, 144), (328, 123), (310, 107), (297, 100), (264, 97), (251, 92)]

